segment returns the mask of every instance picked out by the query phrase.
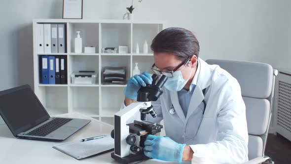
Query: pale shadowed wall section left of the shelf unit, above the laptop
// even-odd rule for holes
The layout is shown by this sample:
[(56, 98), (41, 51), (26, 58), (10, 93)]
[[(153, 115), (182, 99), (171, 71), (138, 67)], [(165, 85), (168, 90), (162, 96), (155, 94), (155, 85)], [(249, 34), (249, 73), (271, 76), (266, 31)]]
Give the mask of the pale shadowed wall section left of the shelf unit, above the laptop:
[(34, 87), (32, 19), (60, 18), (61, 10), (62, 0), (0, 1), (0, 90)]

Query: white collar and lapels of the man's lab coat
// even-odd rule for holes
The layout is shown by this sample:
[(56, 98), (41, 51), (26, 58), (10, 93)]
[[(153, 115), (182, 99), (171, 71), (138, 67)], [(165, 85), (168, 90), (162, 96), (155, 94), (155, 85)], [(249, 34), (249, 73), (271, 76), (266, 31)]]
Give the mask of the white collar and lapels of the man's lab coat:
[(177, 112), (178, 116), (180, 119), (185, 123), (191, 114), (193, 113), (194, 110), (199, 106), (199, 104), (202, 102), (204, 99), (204, 95), (202, 90), (204, 88), (207, 88), (210, 85), (210, 79), (211, 79), (211, 71), (209, 68), (209, 65), (203, 61), (202, 59), (198, 58), (198, 68), (197, 71), (194, 75), (194, 78), (192, 80), (192, 83), (196, 82), (196, 87), (194, 89), (194, 92), (191, 97), (191, 101), (189, 104), (189, 109), (187, 112), (187, 116), (185, 117), (182, 108), (179, 103), (178, 99), (178, 92), (177, 91), (170, 91), (171, 95), (171, 101), (174, 106), (175, 111)]

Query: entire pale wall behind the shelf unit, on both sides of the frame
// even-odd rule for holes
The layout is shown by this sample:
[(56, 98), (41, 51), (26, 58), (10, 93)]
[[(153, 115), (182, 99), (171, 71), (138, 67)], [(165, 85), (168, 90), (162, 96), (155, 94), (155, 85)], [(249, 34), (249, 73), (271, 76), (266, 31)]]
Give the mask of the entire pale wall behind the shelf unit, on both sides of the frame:
[[(131, 0), (83, 0), (84, 19), (122, 19)], [(0, 90), (33, 87), (32, 19), (61, 18), (63, 0), (1, 0)], [(200, 57), (289, 67), (290, 0), (134, 0), (135, 19), (165, 20), (200, 41)]]

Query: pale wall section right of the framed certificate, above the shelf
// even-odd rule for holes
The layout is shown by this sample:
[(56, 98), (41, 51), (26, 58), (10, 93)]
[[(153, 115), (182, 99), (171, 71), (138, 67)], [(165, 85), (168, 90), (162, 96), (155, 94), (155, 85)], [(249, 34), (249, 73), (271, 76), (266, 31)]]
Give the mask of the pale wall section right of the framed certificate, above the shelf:
[[(84, 17), (121, 19), (131, 0), (85, 0)], [(135, 19), (166, 20), (200, 42), (203, 59), (265, 62), (288, 67), (289, 0), (134, 0)]]

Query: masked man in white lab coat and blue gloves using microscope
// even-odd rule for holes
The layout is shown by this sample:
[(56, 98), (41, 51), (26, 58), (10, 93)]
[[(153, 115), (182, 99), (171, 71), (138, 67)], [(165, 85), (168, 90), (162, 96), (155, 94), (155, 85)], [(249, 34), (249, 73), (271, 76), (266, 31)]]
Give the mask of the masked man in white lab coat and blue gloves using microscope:
[[(161, 31), (151, 49), (153, 72), (169, 79), (152, 102), (157, 117), (147, 120), (164, 120), (167, 137), (148, 135), (145, 155), (180, 163), (193, 155), (222, 164), (248, 161), (246, 107), (237, 80), (198, 58), (199, 43), (186, 29)], [(124, 90), (124, 105), (135, 102), (138, 89), (151, 81), (146, 72), (133, 76)]]

